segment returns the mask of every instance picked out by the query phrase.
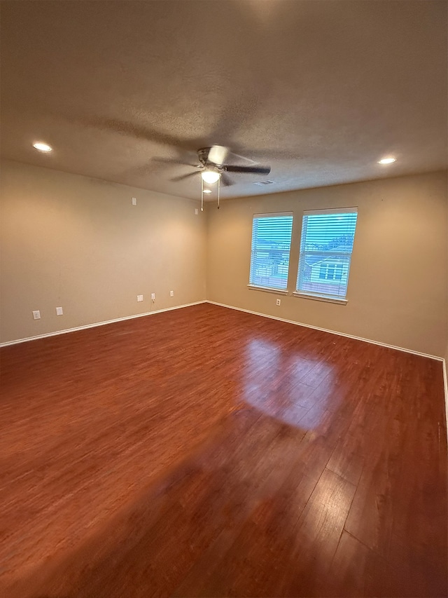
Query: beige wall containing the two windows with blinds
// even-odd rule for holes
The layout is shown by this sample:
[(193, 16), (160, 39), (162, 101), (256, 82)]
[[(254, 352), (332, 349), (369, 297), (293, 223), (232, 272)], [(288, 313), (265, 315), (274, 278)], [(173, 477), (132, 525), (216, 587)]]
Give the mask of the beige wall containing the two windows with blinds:
[[(303, 210), (358, 206), (346, 305), (291, 296)], [(292, 211), (287, 297), (247, 288), (255, 213)], [(447, 347), (447, 174), (241, 198), (207, 209), (207, 298), (443, 356)], [(281, 298), (281, 306), (275, 300)]]

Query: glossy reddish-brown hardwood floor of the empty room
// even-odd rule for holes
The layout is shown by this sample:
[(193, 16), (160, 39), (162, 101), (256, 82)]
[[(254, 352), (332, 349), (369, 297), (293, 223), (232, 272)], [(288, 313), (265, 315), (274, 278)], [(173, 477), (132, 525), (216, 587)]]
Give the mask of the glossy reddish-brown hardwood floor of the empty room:
[(5, 597), (447, 595), (441, 362), (202, 304), (1, 367)]

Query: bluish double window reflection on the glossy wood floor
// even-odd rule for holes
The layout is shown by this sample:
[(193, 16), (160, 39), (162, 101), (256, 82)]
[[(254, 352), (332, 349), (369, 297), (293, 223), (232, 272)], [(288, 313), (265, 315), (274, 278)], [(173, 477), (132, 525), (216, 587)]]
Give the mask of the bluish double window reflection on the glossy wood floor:
[(331, 364), (252, 339), (243, 369), (244, 400), (252, 407), (289, 426), (312, 429), (321, 422), (334, 383)]

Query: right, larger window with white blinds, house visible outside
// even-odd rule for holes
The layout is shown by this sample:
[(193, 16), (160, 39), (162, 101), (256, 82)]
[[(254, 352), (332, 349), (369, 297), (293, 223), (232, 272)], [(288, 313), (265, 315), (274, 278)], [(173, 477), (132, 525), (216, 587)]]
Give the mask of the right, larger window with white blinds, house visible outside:
[(346, 298), (357, 216), (356, 208), (304, 212), (297, 293)]

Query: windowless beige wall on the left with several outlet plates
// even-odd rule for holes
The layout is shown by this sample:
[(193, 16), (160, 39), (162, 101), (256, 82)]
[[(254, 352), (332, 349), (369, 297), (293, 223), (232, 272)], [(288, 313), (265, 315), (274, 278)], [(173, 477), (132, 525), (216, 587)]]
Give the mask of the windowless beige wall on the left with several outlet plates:
[(1, 342), (205, 299), (206, 219), (198, 207), (2, 162)]

